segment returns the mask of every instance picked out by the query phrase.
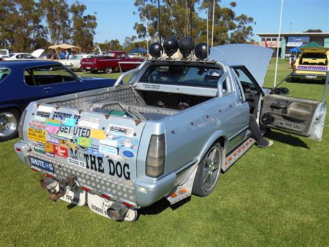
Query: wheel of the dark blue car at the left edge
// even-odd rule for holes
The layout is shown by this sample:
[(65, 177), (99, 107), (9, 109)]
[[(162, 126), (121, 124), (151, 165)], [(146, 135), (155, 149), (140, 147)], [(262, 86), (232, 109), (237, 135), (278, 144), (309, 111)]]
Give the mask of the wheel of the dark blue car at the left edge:
[(18, 134), (19, 111), (0, 110), (0, 142), (15, 138)]

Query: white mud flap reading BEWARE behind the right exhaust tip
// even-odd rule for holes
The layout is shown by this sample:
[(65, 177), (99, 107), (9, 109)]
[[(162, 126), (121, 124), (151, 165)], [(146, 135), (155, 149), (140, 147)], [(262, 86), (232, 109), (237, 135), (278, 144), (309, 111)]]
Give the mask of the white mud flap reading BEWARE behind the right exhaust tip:
[[(96, 214), (100, 214), (101, 216), (110, 218), (110, 216), (108, 216), (107, 210), (114, 203), (114, 201), (101, 198), (100, 196), (94, 195), (92, 193), (87, 193), (87, 194), (88, 194), (87, 205), (90, 208), (90, 210), (92, 210), (92, 212)], [(128, 208), (124, 221), (135, 221), (136, 219), (137, 219), (136, 209)]]

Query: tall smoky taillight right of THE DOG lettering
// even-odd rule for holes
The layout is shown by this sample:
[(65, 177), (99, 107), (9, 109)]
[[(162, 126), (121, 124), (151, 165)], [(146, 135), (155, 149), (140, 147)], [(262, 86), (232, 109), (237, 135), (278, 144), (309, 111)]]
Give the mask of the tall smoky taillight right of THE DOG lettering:
[(159, 177), (165, 171), (165, 134), (152, 135), (147, 150), (146, 176)]

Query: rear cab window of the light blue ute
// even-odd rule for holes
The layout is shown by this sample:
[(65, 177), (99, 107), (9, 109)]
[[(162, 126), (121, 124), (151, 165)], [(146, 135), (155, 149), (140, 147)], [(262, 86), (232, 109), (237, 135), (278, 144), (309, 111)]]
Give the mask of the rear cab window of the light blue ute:
[(211, 67), (151, 66), (144, 72), (140, 81), (216, 88), (222, 74), (219, 68)]

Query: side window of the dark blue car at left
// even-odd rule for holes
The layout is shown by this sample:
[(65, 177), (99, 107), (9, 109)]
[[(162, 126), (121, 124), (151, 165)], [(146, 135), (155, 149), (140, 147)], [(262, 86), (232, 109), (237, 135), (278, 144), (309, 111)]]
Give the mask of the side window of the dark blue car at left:
[(24, 79), (28, 86), (44, 86), (76, 80), (73, 74), (60, 65), (33, 67), (25, 70)]

